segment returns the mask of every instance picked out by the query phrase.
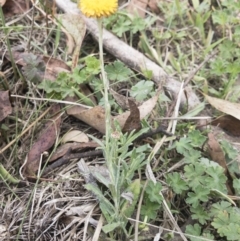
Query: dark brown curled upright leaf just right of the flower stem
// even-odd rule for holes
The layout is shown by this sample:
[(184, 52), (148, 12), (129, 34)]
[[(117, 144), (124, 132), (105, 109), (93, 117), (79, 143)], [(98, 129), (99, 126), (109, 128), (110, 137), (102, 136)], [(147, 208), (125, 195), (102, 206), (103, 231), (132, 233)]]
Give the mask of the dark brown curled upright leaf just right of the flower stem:
[(140, 121), (140, 111), (137, 105), (132, 100), (128, 100), (130, 107), (130, 115), (128, 116), (123, 128), (122, 132), (131, 132), (133, 130), (139, 131), (142, 127)]

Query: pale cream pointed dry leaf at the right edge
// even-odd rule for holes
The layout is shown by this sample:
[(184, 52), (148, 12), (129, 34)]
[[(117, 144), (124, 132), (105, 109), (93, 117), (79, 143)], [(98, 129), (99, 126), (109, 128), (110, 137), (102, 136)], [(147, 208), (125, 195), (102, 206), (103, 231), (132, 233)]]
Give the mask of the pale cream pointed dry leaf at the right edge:
[(232, 103), (227, 100), (222, 100), (214, 98), (208, 95), (204, 95), (207, 101), (215, 107), (217, 110), (226, 113), (228, 115), (234, 116), (240, 120), (240, 104)]

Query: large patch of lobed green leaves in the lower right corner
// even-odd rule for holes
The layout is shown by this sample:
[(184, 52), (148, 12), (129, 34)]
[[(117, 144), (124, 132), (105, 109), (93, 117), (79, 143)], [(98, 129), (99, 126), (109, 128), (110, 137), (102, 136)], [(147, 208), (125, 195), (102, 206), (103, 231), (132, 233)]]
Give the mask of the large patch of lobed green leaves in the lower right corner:
[[(195, 225), (188, 225), (186, 232), (196, 237), (191, 240), (201, 240), (200, 237), (215, 237), (212, 229), (202, 228), (200, 225), (211, 224), (220, 237), (227, 240), (239, 239), (239, 208), (233, 207), (226, 201), (219, 202), (220, 194), (224, 198), (227, 194), (224, 169), (216, 162), (193, 154), (202, 146), (206, 137), (198, 130), (190, 132), (186, 137), (180, 138), (173, 147), (184, 156), (185, 166), (182, 174), (172, 172), (166, 174), (166, 182), (175, 195), (179, 195), (189, 205), (191, 218), (196, 220)], [(224, 146), (227, 147), (225, 142)], [(193, 158), (191, 158), (191, 153)], [(235, 158), (230, 148), (229, 156)], [(234, 154), (236, 154), (234, 152)], [(234, 180), (234, 187), (239, 188), (239, 182)], [(217, 190), (217, 192), (216, 192)], [(210, 212), (209, 212), (210, 210)]]

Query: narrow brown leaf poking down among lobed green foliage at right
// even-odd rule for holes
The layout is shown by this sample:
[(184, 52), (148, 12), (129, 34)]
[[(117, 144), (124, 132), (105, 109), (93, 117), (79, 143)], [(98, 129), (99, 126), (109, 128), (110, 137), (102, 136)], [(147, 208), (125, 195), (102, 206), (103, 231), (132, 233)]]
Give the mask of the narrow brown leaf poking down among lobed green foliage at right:
[(208, 133), (207, 144), (208, 144), (208, 152), (211, 156), (211, 159), (217, 162), (224, 169), (224, 173), (227, 177), (226, 186), (228, 189), (228, 194), (233, 195), (234, 194), (233, 179), (228, 170), (224, 152), (212, 133)]

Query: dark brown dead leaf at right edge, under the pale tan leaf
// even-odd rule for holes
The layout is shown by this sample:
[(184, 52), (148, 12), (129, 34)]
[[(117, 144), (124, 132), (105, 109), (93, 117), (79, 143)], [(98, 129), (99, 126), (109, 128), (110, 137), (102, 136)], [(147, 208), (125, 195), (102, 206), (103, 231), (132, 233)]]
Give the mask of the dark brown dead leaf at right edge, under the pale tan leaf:
[(233, 136), (240, 136), (240, 120), (231, 115), (220, 116), (211, 125), (219, 126)]

